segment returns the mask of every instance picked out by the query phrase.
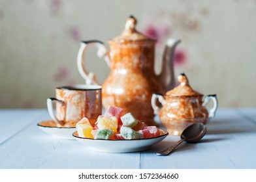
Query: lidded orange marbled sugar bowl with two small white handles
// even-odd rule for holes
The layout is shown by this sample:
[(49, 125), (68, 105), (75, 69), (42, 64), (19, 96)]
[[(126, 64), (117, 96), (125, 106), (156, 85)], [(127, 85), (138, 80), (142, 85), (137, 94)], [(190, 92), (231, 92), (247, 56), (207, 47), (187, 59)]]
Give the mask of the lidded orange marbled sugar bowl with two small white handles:
[[(182, 131), (193, 123), (206, 124), (209, 118), (215, 116), (217, 110), (216, 94), (205, 96), (196, 92), (189, 85), (187, 76), (184, 73), (178, 75), (180, 85), (168, 91), (164, 96), (153, 94), (152, 107), (155, 114), (163, 125), (167, 127), (171, 135), (181, 135)], [(156, 104), (158, 101), (163, 105), (162, 109)], [(206, 105), (212, 99), (213, 107), (206, 109)]]

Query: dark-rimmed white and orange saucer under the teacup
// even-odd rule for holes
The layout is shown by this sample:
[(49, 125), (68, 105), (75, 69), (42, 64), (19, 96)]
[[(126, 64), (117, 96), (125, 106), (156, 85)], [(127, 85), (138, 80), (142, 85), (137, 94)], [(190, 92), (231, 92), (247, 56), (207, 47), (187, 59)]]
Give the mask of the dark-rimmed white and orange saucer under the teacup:
[(76, 127), (57, 127), (54, 120), (46, 120), (37, 123), (37, 126), (44, 132), (56, 136), (57, 138), (74, 140), (72, 133), (76, 131)]

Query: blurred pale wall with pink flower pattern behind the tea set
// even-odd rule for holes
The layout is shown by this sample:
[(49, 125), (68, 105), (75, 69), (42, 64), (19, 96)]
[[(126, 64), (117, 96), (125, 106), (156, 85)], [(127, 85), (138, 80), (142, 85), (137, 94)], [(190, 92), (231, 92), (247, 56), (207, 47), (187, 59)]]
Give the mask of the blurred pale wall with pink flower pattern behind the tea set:
[[(0, 0), (0, 108), (46, 108), (60, 85), (84, 84), (80, 40), (121, 34), (133, 15), (156, 38), (156, 72), (167, 38), (178, 38), (175, 74), (217, 94), (220, 107), (256, 107), (256, 1)], [(96, 49), (86, 65), (103, 83), (109, 69)]]

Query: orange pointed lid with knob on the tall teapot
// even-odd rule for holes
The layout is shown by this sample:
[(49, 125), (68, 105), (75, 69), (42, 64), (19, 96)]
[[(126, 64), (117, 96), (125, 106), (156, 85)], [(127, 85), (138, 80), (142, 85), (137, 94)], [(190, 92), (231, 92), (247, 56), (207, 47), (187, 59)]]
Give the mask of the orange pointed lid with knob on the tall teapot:
[(116, 42), (127, 42), (127, 41), (152, 41), (156, 42), (152, 38), (136, 31), (137, 20), (134, 16), (129, 16), (125, 23), (125, 29), (120, 36), (113, 38), (112, 40)]

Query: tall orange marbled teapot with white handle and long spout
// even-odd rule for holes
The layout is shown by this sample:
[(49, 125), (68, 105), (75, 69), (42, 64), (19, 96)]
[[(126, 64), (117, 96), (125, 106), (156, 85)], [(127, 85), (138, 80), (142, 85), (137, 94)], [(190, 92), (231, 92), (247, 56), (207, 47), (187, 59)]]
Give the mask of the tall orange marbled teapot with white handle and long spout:
[(164, 94), (174, 86), (174, 49), (180, 40), (167, 41), (161, 73), (154, 71), (156, 40), (136, 31), (136, 19), (130, 16), (120, 36), (109, 40), (110, 50), (103, 42), (81, 42), (77, 66), (87, 85), (99, 85), (94, 73), (86, 70), (86, 50), (96, 46), (97, 55), (104, 58), (110, 73), (103, 83), (103, 106), (121, 107), (147, 125), (155, 125), (151, 98), (153, 93)]

